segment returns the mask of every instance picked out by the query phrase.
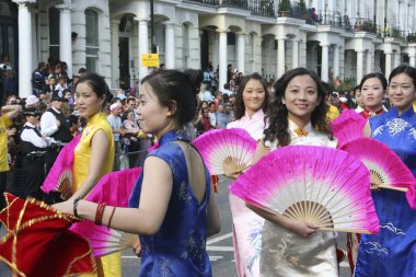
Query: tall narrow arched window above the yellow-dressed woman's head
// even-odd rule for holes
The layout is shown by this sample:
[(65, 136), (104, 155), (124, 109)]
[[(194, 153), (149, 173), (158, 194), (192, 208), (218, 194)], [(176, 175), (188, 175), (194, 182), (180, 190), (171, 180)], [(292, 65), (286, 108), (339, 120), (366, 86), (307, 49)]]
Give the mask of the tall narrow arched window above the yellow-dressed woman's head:
[(85, 55), (86, 70), (97, 72), (99, 69), (99, 13), (94, 10), (85, 10)]

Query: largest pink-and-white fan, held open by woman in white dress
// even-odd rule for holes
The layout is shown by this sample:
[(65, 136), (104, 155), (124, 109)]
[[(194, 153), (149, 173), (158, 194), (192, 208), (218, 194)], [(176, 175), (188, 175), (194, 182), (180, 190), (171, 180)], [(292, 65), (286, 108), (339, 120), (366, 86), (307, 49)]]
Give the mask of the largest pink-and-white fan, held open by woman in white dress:
[(271, 151), (230, 185), (243, 200), (320, 230), (378, 233), (367, 168), (347, 152), (311, 146)]

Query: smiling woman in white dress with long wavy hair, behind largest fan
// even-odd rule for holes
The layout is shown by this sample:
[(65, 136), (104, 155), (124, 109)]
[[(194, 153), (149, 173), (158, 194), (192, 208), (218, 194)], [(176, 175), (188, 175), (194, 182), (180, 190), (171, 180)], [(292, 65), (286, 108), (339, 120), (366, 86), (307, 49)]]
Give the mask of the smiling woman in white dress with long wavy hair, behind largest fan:
[[(287, 71), (277, 80), (275, 94), (268, 113), (269, 127), (257, 145), (253, 162), (285, 146), (336, 147), (326, 118), (325, 90), (314, 72), (304, 68)], [(333, 232), (316, 232), (312, 223), (247, 206), (266, 219), (262, 276), (338, 276)]]

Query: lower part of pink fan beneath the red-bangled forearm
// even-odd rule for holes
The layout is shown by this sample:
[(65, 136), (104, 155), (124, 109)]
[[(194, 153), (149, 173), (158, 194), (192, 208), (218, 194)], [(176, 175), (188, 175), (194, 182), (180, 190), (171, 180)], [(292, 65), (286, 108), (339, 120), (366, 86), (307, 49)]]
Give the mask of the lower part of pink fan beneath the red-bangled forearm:
[(96, 226), (88, 220), (72, 224), (70, 230), (90, 242), (95, 257), (131, 249), (139, 239), (137, 234)]

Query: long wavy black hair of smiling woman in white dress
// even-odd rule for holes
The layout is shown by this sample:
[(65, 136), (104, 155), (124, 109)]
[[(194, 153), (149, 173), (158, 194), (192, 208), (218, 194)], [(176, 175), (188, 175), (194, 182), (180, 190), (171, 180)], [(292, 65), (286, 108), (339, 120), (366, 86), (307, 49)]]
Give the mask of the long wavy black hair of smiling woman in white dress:
[(320, 103), (312, 112), (311, 123), (312, 127), (316, 130), (325, 132), (332, 138), (332, 132), (328, 127), (328, 119), (326, 113), (328, 111), (328, 105), (325, 103), (326, 90), (322, 85), (320, 78), (313, 71), (310, 71), (305, 68), (296, 68), (287, 71), (282, 74), (279, 80), (275, 83), (275, 97), (269, 106), (267, 114), (268, 127), (264, 130), (265, 138), (264, 140), (275, 141), (277, 140), (278, 146), (284, 147), (290, 145), (290, 135), (288, 131), (289, 119), (288, 119), (288, 109), (282, 103), (285, 97), (286, 89), (289, 82), (297, 76), (309, 76), (316, 83), (317, 88), (317, 97)]

